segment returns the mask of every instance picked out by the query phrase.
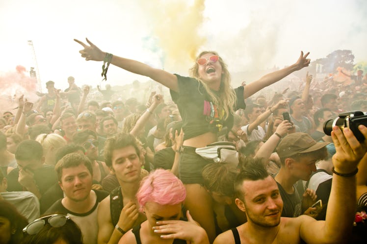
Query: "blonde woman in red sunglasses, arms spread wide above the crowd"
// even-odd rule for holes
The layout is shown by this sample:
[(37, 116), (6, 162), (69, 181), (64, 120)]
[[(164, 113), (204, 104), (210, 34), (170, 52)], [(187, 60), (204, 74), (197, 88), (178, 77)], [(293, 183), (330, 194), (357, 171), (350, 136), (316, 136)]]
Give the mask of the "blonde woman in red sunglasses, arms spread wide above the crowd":
[[(145, 75), (168, 87), (172, 100), (178, 105), (184, 131), (184, 143), (176, 153), (180, 154), (179, 176), (185, 184), (187, 196), (185, 208), (207, 231), (210, 242), (216, 236), (212, 200), (202, 187), (201, 171), (212, 161), (202, 158), (195, 152), (198, 147), (206, 147), (217, 142), (218, 132), (233, 126), (233, 114), (239, 108), (244, 109), (244, 99), (257, 93), (262, 88), (273, 84), (294, 71), (310, 64), (309, 53), (301, 52), (298, 60), (279, 71), (266, 74), (259, 80), (240, 86), (231, 87), (230, 73), (223, 59), (214, 51), (199, 54), (190, 69), (191, 77), (155, 69), (144, 63), (106, 53), (91, 43), (90, 45), (75, 40), (83, 49), (79, 52), (86, 60), (104, 61), (103, 74), (111, 63), (132, 73)], [(200, 202), (200, 204), (197, 204)]]

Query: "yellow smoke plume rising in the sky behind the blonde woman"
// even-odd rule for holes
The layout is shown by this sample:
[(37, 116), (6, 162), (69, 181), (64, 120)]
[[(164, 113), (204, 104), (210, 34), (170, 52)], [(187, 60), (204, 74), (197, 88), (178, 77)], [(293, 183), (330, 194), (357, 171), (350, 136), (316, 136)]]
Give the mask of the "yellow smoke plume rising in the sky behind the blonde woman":
[(163, 51), (164, 69), (187, 72), (206, 39), (200, 35), (205, 0), (139, 0), (139, 6), (151, 25)]

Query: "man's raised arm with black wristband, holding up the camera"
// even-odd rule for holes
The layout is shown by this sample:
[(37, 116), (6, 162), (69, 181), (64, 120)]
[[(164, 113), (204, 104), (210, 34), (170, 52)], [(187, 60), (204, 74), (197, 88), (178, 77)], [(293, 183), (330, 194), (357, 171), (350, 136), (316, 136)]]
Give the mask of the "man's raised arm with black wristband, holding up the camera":
[[(359, 126), (367, 137), (367, 128)], [(338, 126), (331, 133), (336, 153), (333, 156), (334, 174), (325, 221), (304, 218), (301, 238), (306, 243), (346, 243), (351, 234), (356, 206), (357, 165), (366, 154), (366, 142), (357, 141), (349, 128)], [(337, 173), (335, 173), (337, 172)]]

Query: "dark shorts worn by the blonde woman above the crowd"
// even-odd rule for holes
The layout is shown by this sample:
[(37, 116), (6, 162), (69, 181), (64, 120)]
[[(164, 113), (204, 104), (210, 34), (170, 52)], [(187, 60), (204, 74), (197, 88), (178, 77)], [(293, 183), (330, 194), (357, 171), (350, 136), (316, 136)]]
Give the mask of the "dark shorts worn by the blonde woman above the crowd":
[(195, 152), (195, 147), (181, 146), (179, 178), (184, 184), (203, 184), (202, 170), (212, 160), (206, 160)]

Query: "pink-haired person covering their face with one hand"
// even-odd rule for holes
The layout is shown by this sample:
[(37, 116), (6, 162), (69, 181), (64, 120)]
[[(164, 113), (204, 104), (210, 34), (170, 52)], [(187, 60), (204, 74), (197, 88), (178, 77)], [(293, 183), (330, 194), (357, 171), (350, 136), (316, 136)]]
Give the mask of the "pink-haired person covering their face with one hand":
[(173, 173), (158, 169), (145, 177), (136, 194), (147, 220), (134, 226), (119, 244), (209, 244), (205, 230), (186, 212), (182, 205), (186, 197), (184, 184)]

